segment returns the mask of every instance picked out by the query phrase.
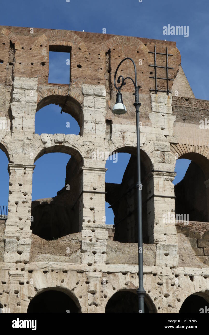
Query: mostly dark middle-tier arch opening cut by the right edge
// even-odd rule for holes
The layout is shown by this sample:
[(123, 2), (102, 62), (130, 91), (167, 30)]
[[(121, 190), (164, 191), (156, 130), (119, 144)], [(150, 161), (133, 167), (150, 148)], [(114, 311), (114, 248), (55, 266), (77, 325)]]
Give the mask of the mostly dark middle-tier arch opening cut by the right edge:
[[(209, 160), (198, 153), (185, 153), (177, 164), (191, 162), (182, 180), (175, 184), (175, 214), (185, 215), (189, 221), (209, 222)], [(184, 160), (183, 160), (184, 159)], [(182, 165), (183, 166), (183, 165)], [(183, 169), (181, 169), (183, 170)], [(180, 172), (179, 172), (180, 173)]]

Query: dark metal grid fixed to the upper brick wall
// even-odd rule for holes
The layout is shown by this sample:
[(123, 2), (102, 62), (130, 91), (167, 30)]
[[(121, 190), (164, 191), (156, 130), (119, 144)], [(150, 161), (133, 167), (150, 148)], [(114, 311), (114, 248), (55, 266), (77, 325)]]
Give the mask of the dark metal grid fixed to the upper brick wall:
[[(168, 48), (166, 47), (166, 52), (161, 53), (161, 52), (156, 52), (156, 45), (154, 47), (154, 52), (149, 51), (149, 54), (154, 54), (154, 65), (149, 65), (155, 68), (155, 76), (151, 77), (149, 76), (149, 78), (154, 78), (155, 79), (155, 89), (150, 88), (150, 91), (155, 91), (155, 93), (157, 94), (157, 92), (166, 92), (167, 94), (172, 93), (172, 91), (169, 91), (169, 86), (168, 86), (168, 81), (169, 80), (174, 80), (174, 79), (170, 79), (168, 78), (168, 69), (173, 70), (173, 67), (169, 67), (168, 66), (168, 56), (173, 56), (172, 54), (168, 54)], [(156, 55), (165, 55), (166, 56), (166, 66), (159, 66), (157, 65), (157, 61), (156, 61)], [(163, 68), (166, 69), (166, 78), (162, 78), (162, 77), (157, 77), (157, 67), (159, 68)], [(157, 79), (162, 79), (162, 80), (166, 80), (167, 81), (167, 90), (162, 90), (162, 89), (158, 89), (157, 88)]]

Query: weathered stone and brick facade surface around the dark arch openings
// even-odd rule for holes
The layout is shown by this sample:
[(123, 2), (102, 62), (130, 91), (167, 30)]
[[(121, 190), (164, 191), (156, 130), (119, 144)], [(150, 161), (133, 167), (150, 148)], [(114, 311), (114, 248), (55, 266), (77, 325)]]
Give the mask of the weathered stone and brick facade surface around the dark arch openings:
[[(173, 55), (169, 58), (172, 94), (150, 91), (154, 80), (150, 78), (153, 56), (149, 51), (154, 45), (162, 53), (168, 47)], [(48, 83), (50, 46), (53, 50), (56, 46), (70, 48), (70, 87)], [(106, 158), (100, 155), (136, 152), (130, 82), (122, 91), (127, 113), (112, 114), (114, 71), (127, 56), (136, 62), (142, 86), (140, 140), (149, 237), (144, 245), (146, 305), (150, 313), (178, 313), (193, 293), (209, 299), (209, 246), (200, 237), (189, 239), (188, 234), (177, 233), (175, 222), (163, 220), (164, 214), (175, 212), (172, 181), (177, 158), (191, 159), (201, 167), (206, 188), (209, 180), (208, 130), (199, 127), (199, 121), (209, 116), (209, 102), (195, 99), (179, 65), (176, 44), (66, 30), (34, 28), (31, 34), (30, 28), (0, 27), (0, 121), (9, 125), (0, 128), (0, 149), (9, 160), (8, 218), (0, 221), (0, 307), (10, 308), (11, 313), (27, 313), (30, 301), (50, 289), (69, 295), (81, 313), (105, 313), (114, 293), (138, 288), (137, 244), (108, 239)], [(163, 60), (159, 58), (159, 64)], [(124, 77), (133, 76), (128, 62), (121, 69)], [(159, 75), (164, 75), (163, 70)], [(160, 88), (166, 89), (166, 81)], [(76, 119), (79, 135), (35, 133), (36, 111), (52, 103)], [(72, 155), (79, 167), (79, 197), (74, 199), (77, 231), (56, 241), (45, 241), (31, 230), (33, 170), (36, 160), (50, 152)], [(98, 159), (92, 159), (93, 152), (99, 152)], [(209, 204), (209, 193), (207, 197)], [(185, 243), (194, 257), (191, 267)]]

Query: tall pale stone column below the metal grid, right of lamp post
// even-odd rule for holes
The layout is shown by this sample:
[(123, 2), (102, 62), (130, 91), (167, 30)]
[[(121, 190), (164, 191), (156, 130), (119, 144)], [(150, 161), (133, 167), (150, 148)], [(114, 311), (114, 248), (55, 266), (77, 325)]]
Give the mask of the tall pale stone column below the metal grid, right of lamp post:
[[(153, 228), (153, 243), (156, 247), (156, 266), (174, 267), (178, 264), (177, 237), (175, 227), (174, 185), (175, 156), (170, 152), (173, 141), (172, 97), (163, 92), (151, 94), (152, 122), (155, 136), (150, 158), (153, 162), (153, 180), (150, 179), (149, 233)], [(154, 218), (153, 218), (154, 215)], [(154, 219), (154, 220), (153, 220)], [(151, 225), (153, 225), (151, 227)]]

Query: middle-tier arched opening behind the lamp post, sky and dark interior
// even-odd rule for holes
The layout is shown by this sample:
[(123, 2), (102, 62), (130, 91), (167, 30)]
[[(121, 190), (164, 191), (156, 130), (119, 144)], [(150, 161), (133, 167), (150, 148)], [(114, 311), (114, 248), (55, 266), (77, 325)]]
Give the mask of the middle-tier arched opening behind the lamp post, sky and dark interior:
[[(114, 213), (114, 240), (122, 243), (138, 242), (137, 224), (137, 156), (133, 148), (131, 154), (126, 152), (117, 153), (117, 162), (107, 160), (106, 167), (106, 202), (108, 202)], [(144, 154), (145, 155), (145, 154)], [(116, 160), (115, 160), (116, 162)], [(150, 161), (141, 159), (141, 182), (142, 191), (142, 220), (143, 220), (143, 243), (149, 243), (148, 218), (147, 218), (147, 182), (146, 176), (150, 168)], [(122, 178), (121, 178), (122, 177)], [(108, 220), (106, 223), (113, 224)]]

